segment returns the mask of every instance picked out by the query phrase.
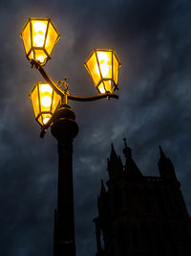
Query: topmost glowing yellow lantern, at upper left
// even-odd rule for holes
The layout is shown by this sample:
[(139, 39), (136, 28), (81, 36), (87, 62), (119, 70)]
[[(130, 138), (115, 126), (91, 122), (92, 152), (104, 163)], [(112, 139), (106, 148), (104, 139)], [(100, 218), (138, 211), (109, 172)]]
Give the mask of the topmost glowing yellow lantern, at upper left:
[(50, 18), (29, 18), (20, 36), (27, 58), (35, 59), (41, 65), (51, 58), (53, 46), (60, 37)]

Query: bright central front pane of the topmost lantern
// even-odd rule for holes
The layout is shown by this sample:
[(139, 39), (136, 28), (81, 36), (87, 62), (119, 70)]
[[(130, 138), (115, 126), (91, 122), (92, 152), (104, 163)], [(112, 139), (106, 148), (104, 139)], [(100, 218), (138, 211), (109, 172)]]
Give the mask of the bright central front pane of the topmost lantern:
[(32, 46), (43, 47), (48, 20), (32, 20)]

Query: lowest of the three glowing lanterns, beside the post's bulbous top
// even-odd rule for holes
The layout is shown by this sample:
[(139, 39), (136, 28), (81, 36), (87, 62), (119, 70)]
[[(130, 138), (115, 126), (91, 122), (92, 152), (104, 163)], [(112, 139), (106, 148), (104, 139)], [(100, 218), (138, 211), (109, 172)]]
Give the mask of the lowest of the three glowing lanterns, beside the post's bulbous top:
[(34, 84), (30, 97), (36, 121), (41, 126), (46, 125), (61, 97), (53, 91), (53, 88), (47, 82), (43, 81)]

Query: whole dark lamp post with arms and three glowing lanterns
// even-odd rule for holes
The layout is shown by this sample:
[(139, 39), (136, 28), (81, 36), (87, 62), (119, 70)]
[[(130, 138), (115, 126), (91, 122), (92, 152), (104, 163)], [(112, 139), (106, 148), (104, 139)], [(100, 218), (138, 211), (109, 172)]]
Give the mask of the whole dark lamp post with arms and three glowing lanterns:
[(50, 18), (29, 18), (21, 37), (26, 57), (32, 67), (41, 73), (45, 81), (34, 84), (30, 97), (35, 120), (41, 127), (40, 137), (44, 137), (51, 127), (58, 143), (58, 188), (57, 207), (54, 212), (54, 256), (74, 256), (74, 186), (73, 186), (73, 139), (78, 133), (74, 111), (68, 100), (95, 101), (98, 99), (118, 99), (118, 68), (120, 62), (114, 50), (95, 49), (85, 61), (99, 94), (79, 97), (69, 94), (68, 83), (53, 81), (43, 66), (51, 59), (53, 46), (60, 35)]

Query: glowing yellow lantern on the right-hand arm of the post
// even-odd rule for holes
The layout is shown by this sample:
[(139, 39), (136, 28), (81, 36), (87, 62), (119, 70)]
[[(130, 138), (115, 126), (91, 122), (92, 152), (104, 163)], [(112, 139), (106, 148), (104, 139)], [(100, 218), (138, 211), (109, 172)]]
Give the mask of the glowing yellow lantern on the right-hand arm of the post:
[(119, 59), (114, 50), (95, 49), (85, 61), (99, 93), (113, 93), (117, 89)]

